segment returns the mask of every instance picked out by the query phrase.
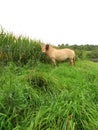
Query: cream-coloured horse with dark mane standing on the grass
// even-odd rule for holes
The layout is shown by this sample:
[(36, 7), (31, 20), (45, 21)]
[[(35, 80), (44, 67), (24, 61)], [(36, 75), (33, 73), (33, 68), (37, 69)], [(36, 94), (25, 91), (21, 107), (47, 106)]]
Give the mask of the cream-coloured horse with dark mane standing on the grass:
[(64, 61), (65, 59), (70, 60), (70, 64), (75, 64), (75, 52), (71, 49), (56, 49), (48, 44), (42, 45), (42, 52), (46, 53), (48, 57), (52, 60), (54, 65), (56, 65), (57, 61)]

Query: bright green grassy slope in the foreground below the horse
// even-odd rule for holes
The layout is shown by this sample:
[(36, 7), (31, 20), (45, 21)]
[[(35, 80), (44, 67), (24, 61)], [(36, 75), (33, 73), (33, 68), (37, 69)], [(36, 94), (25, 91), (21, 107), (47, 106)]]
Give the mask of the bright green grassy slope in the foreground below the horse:
[(0, 67), (0, 129), (97, 130), (98, 64)]

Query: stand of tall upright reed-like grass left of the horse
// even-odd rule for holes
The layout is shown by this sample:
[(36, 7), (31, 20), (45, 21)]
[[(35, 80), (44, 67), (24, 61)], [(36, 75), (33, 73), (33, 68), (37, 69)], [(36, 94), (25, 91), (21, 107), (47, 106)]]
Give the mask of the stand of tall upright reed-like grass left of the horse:
[(0, 61), (7, 64), (13, 61), (17, 64), (36, 63), (41, 57), (41, 42), (7, 33), (0, 30)]

